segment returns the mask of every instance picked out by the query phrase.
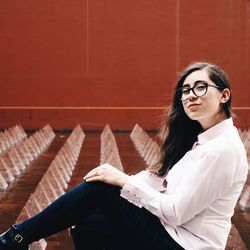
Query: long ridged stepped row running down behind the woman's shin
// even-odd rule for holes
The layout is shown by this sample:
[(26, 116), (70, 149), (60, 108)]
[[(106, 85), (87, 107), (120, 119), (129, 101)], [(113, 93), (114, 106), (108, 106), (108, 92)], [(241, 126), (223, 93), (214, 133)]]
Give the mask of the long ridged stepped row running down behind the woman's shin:
[[(37, 214), (65, 193), (80, 154), (84, 138), (84, 132), (80, 125), (77, 125), (51, 162), (35, 191), (31, 193), (16, 223)], [(46, 241), (41, 239), (34, 242), (30, 246), (30, 250), (44, 250), (46, 246)]]

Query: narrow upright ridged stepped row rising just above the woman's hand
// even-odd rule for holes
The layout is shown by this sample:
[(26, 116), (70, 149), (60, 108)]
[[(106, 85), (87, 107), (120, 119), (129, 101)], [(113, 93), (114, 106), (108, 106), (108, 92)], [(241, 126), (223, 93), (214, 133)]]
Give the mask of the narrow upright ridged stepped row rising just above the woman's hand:
[(104, 163), (109, 163), (110, 165), (123, 171), (115, 136), (108, 124), (104, 127), (101, 133), (100, 164)]

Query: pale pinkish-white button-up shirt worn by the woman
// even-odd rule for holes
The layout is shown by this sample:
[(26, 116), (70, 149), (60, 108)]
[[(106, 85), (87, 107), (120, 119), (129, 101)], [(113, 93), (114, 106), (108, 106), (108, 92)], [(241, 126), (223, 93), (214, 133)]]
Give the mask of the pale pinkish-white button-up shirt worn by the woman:
[(222, 250), (247, 173), (244, 145), (229, 118), (200, 134), (166, 177), (130, 176), (121, 196), (159, 217), (184, 249)]

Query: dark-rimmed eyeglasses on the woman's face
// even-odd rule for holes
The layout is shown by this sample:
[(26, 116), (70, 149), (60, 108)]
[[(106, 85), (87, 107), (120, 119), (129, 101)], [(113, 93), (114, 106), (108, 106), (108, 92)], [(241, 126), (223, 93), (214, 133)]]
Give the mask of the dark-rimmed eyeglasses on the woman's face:
[(203, 82), (203, 81), (198, 81), (198, 82), (195, 82), (195, 84), (192, 88), (190, 88), (188, 86), (184, 86), (184, 87), (178, 89), (177, 94), (178, 94), (179, 99), (181, 101), (186, 101), (188, 99), (188, 96), (189, 96), (191, 90), (195, 96), (201, 97), (207, 93), (208, 87), (214, 87), (214, 88), (220, 89), (216, 85), (208, 84), (207, 82)]

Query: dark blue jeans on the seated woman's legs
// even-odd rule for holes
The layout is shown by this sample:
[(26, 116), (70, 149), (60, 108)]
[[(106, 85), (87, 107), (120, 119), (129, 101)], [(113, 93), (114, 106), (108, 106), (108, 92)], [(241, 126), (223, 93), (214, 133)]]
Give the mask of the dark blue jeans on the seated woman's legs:
[(79, 250), (183, 249), (155, 215), (120, 197), (120, 188), (102, 182), (77, 185), (16, 227), (31, 243), (73, 225)]

